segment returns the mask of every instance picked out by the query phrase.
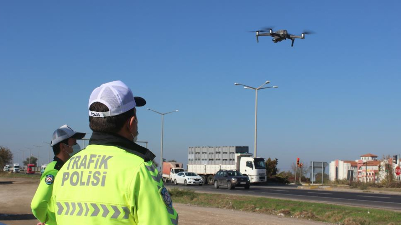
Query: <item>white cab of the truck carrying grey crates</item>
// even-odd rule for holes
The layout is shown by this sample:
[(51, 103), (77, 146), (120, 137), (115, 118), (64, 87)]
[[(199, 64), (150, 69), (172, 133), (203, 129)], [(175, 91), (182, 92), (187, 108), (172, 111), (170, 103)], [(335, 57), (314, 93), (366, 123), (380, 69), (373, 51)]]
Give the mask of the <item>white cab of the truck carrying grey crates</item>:
[(247, 175), (251, 183), (265, 182), (265, 160), (260, 157), (241, 157), (239, 172), (243, 175)]

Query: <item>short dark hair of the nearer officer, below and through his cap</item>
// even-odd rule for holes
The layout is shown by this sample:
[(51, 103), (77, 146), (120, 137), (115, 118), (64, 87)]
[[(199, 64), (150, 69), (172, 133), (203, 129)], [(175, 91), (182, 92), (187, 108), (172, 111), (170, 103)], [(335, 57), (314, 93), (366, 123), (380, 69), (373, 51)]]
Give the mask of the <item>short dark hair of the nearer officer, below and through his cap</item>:
[[(107, 112), (109, 108), (103, 103), (93, 102), (89, 106), (89, 110), (95, 112)], [(119, 132), (128, 119), (134, 117), (134, 108), (114, 117), (89, 117), (89, 127), (95, 132), (117, 133)]]

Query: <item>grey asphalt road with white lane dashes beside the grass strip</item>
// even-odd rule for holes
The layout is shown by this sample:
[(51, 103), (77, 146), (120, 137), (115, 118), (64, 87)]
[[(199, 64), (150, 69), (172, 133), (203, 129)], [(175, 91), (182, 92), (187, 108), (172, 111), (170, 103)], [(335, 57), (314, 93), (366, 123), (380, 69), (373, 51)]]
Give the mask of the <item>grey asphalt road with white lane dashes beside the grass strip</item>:
[(249, 190), (238, 187), (233, 190), (227, 190), (222, 187), (215, 189), (213, 185), (203, 186), (184, 186), (166, 184), (168, 187), (189, 188), (196, 191), (234, 194), (234, 195), (253, 195), (260, 197), (272, 197), (279, 199), (291, 199), (300, 201), (314, 201), (341, 205), (363, 206), (371, 208), (384, 208), (401, 211), (401, 195), (373, 194), (365, 192), (343, 192), (343, 191), (325, 191), (317, 189), (295, 189), (286, 186), (251, 186)]

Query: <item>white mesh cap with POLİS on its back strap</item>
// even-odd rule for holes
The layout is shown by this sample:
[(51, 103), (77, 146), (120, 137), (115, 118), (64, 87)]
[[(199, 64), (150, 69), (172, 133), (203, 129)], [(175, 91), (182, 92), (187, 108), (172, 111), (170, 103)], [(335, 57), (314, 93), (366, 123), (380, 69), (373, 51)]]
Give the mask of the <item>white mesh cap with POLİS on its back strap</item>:
[(146, 104), (145, 99), (134, 97), (131, 89), (121, 80), (108, 82), (95, 88), (89, 97), (88, 108), (93, 102), (105, 104), (109, 111), (95, 112), (89, 110), (90, 117), (113, 117), (127, 112), (135, 106), (144, 106)]

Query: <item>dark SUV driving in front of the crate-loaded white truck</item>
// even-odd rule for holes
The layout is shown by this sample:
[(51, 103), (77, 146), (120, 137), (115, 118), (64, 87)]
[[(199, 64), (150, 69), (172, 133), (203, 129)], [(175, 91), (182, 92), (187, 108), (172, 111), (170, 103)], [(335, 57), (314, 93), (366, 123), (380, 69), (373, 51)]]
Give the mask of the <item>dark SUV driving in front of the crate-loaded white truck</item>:
[(225, 186), (227, 189), (234, 189), (235, 187), (249, 189), (249, 183), (249, 178), (236, 170), (219, 170), (213, 179), (215, 188)]

